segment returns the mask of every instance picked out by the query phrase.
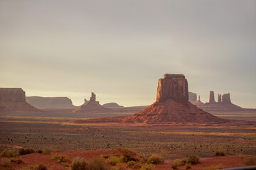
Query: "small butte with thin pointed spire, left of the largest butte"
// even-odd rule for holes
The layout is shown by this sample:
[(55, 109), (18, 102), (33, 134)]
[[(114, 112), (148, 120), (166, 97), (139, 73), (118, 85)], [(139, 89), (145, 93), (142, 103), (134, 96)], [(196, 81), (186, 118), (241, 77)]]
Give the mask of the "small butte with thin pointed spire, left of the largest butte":
[(79, 108), (72, 111), (73, 113), (95, 113), (95, 112), (107, 112), (110, 111), (110, 108), (105, 108), (100, 105), (99, 101), (96, 101), (96, 95), (92, 93), (90, 101), (84, 103)]

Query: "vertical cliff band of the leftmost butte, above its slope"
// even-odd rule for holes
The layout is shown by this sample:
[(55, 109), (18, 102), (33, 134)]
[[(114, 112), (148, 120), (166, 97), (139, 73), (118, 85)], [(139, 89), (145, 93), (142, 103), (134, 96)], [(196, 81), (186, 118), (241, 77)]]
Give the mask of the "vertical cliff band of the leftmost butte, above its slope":
[(0, 88), (0, 102), (26, 102), (21, 88)]

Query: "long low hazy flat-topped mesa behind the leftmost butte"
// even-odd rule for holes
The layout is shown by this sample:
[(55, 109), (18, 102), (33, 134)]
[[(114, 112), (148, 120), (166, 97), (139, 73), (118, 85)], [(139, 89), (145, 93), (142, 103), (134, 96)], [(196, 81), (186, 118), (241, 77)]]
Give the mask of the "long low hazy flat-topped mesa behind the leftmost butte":
[(26, 97), (26, 101), (39, 109), (48, 109), (48, 108), (69, 108), (74, 109), (78, 108), (73, 106), (73, 103), (68, 97), (39, 97), (39, 96), (30, 96)]

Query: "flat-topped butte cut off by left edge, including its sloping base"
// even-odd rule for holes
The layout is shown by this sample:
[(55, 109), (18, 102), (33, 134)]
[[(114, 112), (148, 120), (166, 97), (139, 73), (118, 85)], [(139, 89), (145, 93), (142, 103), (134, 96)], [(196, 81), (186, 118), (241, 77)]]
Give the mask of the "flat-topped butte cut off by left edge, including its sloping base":
[(21, 88), (0, 88), (0, 113), (40, 112), (26, 103), (25, 91)]

